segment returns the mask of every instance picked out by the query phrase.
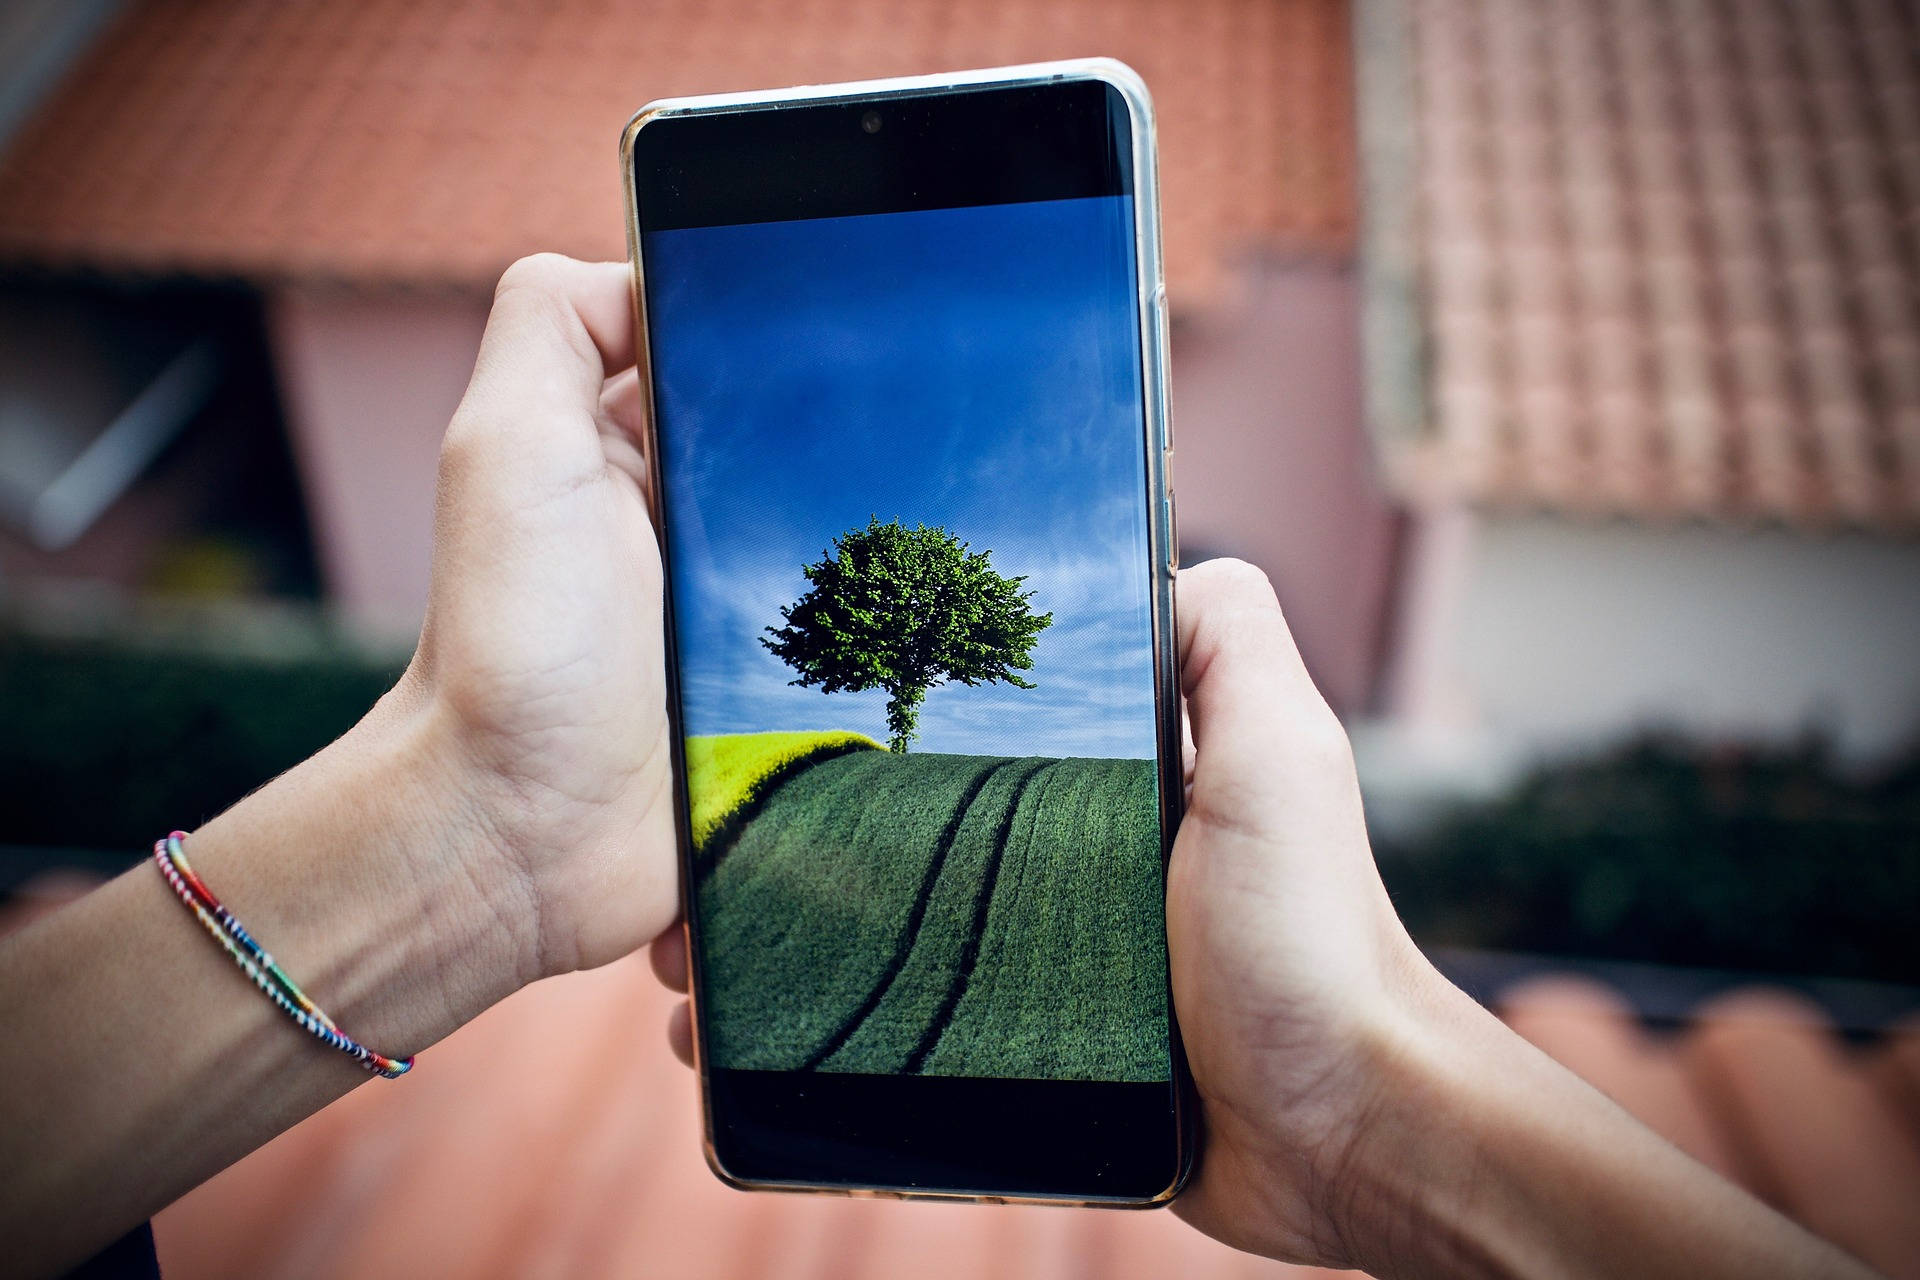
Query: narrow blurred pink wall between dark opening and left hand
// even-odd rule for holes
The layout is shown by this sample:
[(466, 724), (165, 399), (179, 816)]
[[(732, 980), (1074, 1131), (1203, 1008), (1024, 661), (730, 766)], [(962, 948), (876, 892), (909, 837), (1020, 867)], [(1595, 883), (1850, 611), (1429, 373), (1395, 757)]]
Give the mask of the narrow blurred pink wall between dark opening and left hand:
[(269, 324), (326, 589), (365, 624), (411, 629), (426, 606), (440, 438), (486, 299), (284, 290)]

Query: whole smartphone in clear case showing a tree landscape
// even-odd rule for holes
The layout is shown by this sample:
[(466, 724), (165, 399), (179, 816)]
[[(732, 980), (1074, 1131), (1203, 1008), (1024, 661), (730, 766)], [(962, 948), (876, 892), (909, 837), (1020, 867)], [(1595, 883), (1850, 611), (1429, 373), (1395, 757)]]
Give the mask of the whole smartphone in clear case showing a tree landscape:
[(680, 98), (622, 159), (708, 1163), (1171, 1199), (1146, 88), (1089, 59)]

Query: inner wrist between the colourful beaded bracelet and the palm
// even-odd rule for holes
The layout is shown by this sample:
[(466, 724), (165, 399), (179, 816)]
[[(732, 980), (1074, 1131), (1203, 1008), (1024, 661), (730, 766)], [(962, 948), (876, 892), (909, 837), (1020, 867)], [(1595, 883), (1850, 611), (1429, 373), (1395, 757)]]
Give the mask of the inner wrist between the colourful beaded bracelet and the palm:
[(405, 1057), (538, 977), (530, 889), (478, 796), (444, 716), (403, 679), (188, 848), (342, 1027)]

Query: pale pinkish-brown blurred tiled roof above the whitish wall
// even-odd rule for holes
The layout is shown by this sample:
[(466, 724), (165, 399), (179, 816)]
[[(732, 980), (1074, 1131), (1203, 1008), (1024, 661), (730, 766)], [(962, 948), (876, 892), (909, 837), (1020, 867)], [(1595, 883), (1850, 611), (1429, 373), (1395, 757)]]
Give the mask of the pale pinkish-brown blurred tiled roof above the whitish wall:
[(1363, 2), (1402, 486), (1920, 526), (1912, 4)]

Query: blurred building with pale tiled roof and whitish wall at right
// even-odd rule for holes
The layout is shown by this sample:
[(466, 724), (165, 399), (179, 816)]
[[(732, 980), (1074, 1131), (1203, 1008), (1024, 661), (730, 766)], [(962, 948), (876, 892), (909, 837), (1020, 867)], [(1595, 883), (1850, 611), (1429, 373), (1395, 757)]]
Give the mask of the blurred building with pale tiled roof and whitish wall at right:
[(1912, 747), (1914, 6), (1359, 12), (1394, 723)]

